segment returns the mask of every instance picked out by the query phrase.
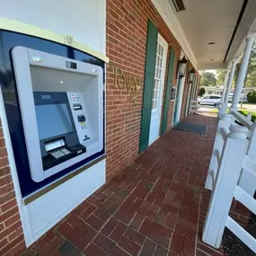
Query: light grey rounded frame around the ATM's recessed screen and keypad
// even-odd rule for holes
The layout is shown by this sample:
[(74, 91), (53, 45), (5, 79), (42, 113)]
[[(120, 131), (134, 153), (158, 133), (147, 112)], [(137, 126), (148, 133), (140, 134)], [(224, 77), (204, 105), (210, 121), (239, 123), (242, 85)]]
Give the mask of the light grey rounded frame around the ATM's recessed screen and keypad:
[[(103, 148), (102, 67), (23, 47), (14, 48), (12, 53), (32, 180), (43, 181), (74, 163), (100, 152)], [(66, 61), (75, 63), (77, 68), (67, 68)], [(43, 171), (36, 112), (32, 107), (35, 105), (33, 92), (66, 92), (68, 95), (74, 92), (80, 93), (84, 101), (91, 104), (91, 107), (87, 108), (87, 114), (96, 130), (91, 128), (92, 140), (81, 142), (82, 145), (88, 146), (86, 153)]]

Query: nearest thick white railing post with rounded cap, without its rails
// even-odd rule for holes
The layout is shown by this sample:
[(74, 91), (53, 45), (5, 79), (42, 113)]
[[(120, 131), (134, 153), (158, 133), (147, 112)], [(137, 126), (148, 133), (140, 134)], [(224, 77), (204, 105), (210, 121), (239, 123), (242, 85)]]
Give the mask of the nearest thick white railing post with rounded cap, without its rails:
[(203, 230), (203, 241), (219, 248), (226, 218), (228, 216), (234, 190), (239, 179), (243, 158), (248, 148), (246, 135), (248, 128), (231, 126), (221, 159), (216, 187), (212, 193)]

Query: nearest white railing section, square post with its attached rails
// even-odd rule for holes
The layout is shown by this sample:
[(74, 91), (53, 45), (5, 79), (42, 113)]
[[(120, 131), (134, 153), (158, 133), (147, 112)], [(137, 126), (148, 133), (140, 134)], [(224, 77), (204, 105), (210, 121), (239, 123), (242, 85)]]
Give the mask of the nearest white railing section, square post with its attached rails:
[(216, 184), (207, 211), (203, 241), (219, 248), (226, 226), (253, 252), (256, 252), (256, 239), (229, 216), (233, 198), (256, 214), (256, 200), (239, 184), (240, 177), (245, 172), (256, 178), (256, 163), (248, 155), (250, 146), (250, 139), (247, 137), (248, 128), (231, 125), (230, 131), (225, 138)]

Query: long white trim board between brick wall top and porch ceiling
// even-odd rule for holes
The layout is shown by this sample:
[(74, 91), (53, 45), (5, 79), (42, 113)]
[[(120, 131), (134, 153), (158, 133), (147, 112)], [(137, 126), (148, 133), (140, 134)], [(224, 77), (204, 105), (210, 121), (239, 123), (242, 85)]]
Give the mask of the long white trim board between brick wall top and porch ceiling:
[(190, 48), (189, 41), (187, 40), (184, 31), (181, 29), (180, 22), (176, 18), (175, 13), (172, 11), (172, 7), (167, 1), (161, 0), (151, 0), (154, 7), (163, 17), (164, 22), (167, 24), (170, 31), (172, 31), (173, 36), (178, 40), (181, 45), (181, 49), (185, 52), (186, 56), (190, 59), (192, 65), (197, 69), (198, 61)]

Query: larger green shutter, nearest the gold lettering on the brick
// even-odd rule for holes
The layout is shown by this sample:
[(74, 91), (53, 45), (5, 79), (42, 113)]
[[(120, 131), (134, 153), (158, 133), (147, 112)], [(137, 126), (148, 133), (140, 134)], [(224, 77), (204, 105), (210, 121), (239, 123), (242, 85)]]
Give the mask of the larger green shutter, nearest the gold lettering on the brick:
[(146, 67), (144, 76), (144, 92), (141, 113), (139, 152), (143, 152), (148, 146), (152, 109), (152, 96), (154, 88), (154, 65), (156, 57), (157, 36), (157, 28), (154, 26), (153, 22), (148, 20), (146, 40)]

